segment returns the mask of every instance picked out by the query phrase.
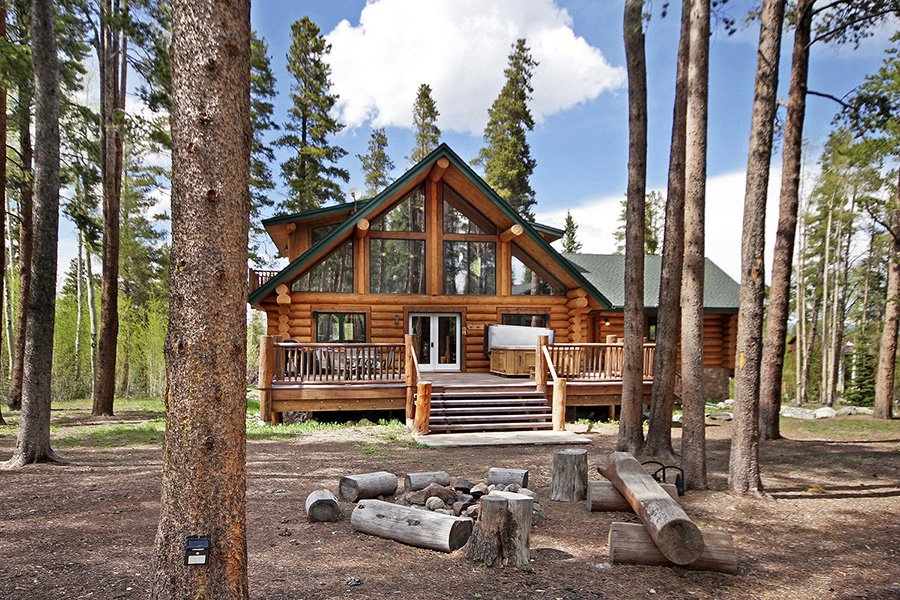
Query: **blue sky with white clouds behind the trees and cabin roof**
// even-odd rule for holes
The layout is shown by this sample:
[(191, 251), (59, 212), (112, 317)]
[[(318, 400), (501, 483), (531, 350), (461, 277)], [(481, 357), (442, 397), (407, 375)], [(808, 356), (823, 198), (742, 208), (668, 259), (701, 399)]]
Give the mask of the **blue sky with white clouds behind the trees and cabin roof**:
[[(664, 191), (668, 165), (675, 52), (680, 2), (659, 16), (652, 2), (646, 31), (649, 94), (648, 189)], [(252, 23), (269, 44), (279, 95), (275, 119), (283, 122), (291, 80), (285, 70), (291, 23), (308, 15), (332, 43), (334, 91), (347, 128), (335, 141), (348, 154), (349, 191), (363, 188), (357, 154), (365, 152), (372, 126), (386, 126), (399, 176), (412, 147), (409, 128), (415, 89), (429, 83), (441, 112), (442, 141), (464, 159), (481, 148), (487, 108), (503, 83), (510, 44), (525, 36), (541, 64), (534, 76), (529, 136), (537, 169), (537, 218), (561, 226), (567, 210), (579, 224), (586, 252), (612, 252), (627, 164), (627, 94), (620, 0), (259, 0)], [(753, 2), (731, 0), (740, 17)], [(810, 89), (841, 96), (878, 68), (897, 22), (886, 23), (857, 48), (813, 46)], [(758, 26), (734, 36), (717, 28), (710, 49), (707, 255), (737, 278), (740, 228)], [(787, 95), (791, 32), (782, 44), (779, 98)], [(131, 102), (133, 98), (129, 98)], [(807, 189), (815, 156), (828, 134), (836, 105), (810, 97), (806, 117)], [(782, 110), (783, 115), (783, 110)], [(278, 161), (285, 154), (277, 151)], [(780, 150), (773, 158), (767, 215), (774, 237)], [(276, 199), (283, 194), (278, 164)], [(160, 210), (168, 209), (167, 194)], [(74, 232), (64, 225), (60, 270), (74, 256)], [(270, 246), (269, 251), (274, 253)], [(767, 258), (771, 251), (767, 252)]]

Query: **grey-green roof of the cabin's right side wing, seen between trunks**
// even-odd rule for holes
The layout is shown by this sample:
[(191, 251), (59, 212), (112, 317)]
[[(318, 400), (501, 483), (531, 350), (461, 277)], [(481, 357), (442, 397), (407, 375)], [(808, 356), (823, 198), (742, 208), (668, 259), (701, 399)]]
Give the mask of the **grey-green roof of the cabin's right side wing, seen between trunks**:
[[(582, 274), (603, 290), (613, 308), (625, 305), (625, 256), (622, 254), (563, 254)], [(644, 306), (659, 305), (659, 272), (662, 257), (644, 257)], [(740, 285), (713, 261), (706, 259), (703, 280), (703, 305), (709, 312), (737, 312)]]

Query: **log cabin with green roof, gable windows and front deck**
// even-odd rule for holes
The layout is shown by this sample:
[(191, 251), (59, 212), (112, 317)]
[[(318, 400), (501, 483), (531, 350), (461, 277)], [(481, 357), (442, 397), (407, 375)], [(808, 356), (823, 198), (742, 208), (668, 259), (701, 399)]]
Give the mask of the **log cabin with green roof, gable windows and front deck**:
[[(561, 230), (522, 219), (447, 145), (374, 198), (263, 225), (290, 261), (249, 273), (249, 303), (267, 317), (267, 422), (286, 411), (403, 410), (424, 434), (561, 429), (579, 406), (615, 415), (624, 257), (558, 252)], [(647, 257), (648, 402), (659, 267)], [(708, 396), (721, 399), (738, 285), (709, 260), (705, 303)], [(526, 341), (495, 343), (510, 332)]]

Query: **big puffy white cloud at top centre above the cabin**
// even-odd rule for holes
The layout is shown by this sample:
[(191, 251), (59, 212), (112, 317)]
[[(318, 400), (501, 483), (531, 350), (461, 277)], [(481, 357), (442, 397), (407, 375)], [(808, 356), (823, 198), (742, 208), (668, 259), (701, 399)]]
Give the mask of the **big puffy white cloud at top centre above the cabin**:
[(531, 104), (537, 122), (625, 81), (625, 70), (576, 36), (553, 0), (374, 0), (359, 25), (343, 20), (326, 37), (332, 91), (350, 127), (367, 120), (410, 127), (416, 90), (428, 83), (441, 129), (481, 133), (520, 37), (540, 63)]

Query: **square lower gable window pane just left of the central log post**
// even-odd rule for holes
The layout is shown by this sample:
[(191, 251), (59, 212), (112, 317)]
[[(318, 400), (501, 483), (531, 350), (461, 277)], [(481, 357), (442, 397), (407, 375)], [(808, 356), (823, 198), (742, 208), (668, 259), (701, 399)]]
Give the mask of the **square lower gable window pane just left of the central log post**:
[(425, 293), (425, 240), (371, 238), (369, 244), (373, 294)]

